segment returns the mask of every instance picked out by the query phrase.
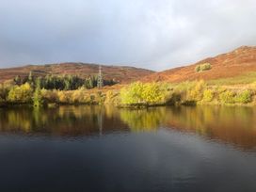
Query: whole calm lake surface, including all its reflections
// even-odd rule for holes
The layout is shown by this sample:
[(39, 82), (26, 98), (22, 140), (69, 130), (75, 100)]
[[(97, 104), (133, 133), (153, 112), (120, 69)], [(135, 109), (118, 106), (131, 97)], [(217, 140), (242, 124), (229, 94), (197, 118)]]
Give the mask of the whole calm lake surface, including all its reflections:
[(256, 191), (256, 108), (0, 109), (0, 191)]

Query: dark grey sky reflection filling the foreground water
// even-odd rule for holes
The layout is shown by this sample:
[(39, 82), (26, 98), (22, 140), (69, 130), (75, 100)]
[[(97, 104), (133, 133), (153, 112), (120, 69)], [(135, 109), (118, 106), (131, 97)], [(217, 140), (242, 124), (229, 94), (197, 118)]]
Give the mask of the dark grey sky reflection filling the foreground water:
[(70, 138), (1, 135), (0, 189), (255, 191), (255, 161), (255, 152), (167, 129)]

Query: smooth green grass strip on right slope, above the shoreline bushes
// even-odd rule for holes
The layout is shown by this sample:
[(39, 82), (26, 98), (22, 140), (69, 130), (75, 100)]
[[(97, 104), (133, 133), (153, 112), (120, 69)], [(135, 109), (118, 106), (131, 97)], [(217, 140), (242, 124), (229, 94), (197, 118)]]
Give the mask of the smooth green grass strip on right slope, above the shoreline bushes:
[(253, 82), (256, 82), (256, 72), (248, 72), (231, 78), (207, 81), (208, 85), (213, 86), (251, 84)]

